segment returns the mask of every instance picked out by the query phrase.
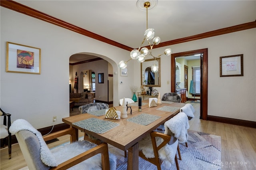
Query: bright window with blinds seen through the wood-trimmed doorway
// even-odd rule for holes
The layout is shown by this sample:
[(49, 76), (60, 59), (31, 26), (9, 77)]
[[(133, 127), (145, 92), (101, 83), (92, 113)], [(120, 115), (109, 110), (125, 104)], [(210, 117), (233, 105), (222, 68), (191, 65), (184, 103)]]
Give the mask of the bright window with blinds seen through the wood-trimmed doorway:
[(201, 79), (200, 66), (192, 67), (192, 80), (193, 90), (192, 94), (200, 94), (200, 79)]

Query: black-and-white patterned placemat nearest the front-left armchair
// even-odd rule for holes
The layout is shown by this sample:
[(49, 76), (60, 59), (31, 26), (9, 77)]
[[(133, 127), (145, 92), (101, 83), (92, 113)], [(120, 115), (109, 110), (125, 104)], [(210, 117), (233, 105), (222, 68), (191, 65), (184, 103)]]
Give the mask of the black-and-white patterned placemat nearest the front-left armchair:
[(89, 119), (84, 119), (82, 121), (74, 122), (72, 123), (72, 125), (76, 125), (78, 127), (84, 128), (86, 130), (90, 130), (91, 132), (95, 132), (95, 133), (104, 133), (114, 127), (119, 126), (118, 123), (114, 123), (111, 121), (104, 121), (94, 117)]

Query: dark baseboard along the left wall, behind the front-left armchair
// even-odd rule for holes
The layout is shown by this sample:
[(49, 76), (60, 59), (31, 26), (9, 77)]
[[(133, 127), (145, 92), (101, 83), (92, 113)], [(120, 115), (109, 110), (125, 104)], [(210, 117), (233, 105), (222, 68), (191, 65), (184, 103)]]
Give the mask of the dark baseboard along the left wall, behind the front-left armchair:
[[(40, 128), (40, 129), (37, 129), (37, 130), (39, 132), (41, 132), (42, 135), (45, 135), (45, 134), (49, 133), (51, 130), (52, 130), (52, 132), (57, 132), (57, 131), (60, 131), (60, 130), (63, 130), (63, 129), (66, 129), (66, 128), (69, 128), (69, 127), (70, 126), (67, 125), (66, 123), (61, 123), (61, 124), (55, 125), (53, 129), (52, 129), (52, 126), (50, 126), (50, 127)], [(4, 140), (1, 139), (1, 148), (4, 146), (3, 142), (4, 142)], [(6, 140), (6, 146), (8, 146), (7, 142), (8, 142), (8, 140)], [(15, 143), (18, 143), (18, 140), (16, 139), (15, 135), (12, 135), (12, 144), (15, 144)]]

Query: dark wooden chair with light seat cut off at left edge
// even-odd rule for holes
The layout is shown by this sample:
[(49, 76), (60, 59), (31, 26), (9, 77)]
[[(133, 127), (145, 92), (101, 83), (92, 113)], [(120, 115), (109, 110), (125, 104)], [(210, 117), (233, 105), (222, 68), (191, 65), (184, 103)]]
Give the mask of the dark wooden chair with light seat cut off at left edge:
[(11, 114), (5, 113), (0, 108), (0, 115), (4, 117), (3, 124), (0, 125), (0, 138), (3, 139), (3, 144), (6, 146), (6, 138), (8, 138), (8, 154), (9, 159), (12, 158), (12, 134), (9, 131), (9, 128), (11, 126)]

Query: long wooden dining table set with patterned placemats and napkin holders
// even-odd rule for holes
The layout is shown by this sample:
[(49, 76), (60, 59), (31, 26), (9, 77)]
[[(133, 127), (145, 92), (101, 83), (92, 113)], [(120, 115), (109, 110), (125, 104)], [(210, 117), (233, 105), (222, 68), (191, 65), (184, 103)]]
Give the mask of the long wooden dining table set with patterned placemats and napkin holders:
[[(142, 101), (142, 111), (138, 111), (138, 106), (130, 105), (132, 109), (132, 114), (128, 110), (127, 118), (121, 118), (120, 120), (106, 119), (105, 115), (96, 116), (88, 113), (75, 115), (71, 117), (63, 118), (62, 121), (73, 128), (76, 128), (77, 140), (78, 140), (78, 130), (81, 130), (87, 134), (90, 134), (103, 142), (111, 144), (116, 148), (121, 150), (128, 150), (128, 170), (138, 170), (139, 167), (139, 145), (138, 142), (147, 134), (152, 132), (158, 126), (164, 124), (166, 121), (174, 117), (180, 112), (180, 108), (183, 107), (185, 103), (162, 103), (156, 107), (148, 107), (148, 100)], [(129, 106), (129, 104), (128, 104)], [(122, 106), (115, 107), (116, 110), (122, 111)], [(171, 111), (166, 111), (164, 108), (169, 108)], [(137, 117), (142, 113), (149, 115), (159, 116), (159, 119), (153, 121), (149, 125), (140, 125), (134, 122), (127, 121), (127, 119), (132, 117)], [(104, 133), (95, 133), (90, 130), (86, 130), (72, 123), (82, 121), (89, 118), (97, 118), (105, 121), (111, 121), (113, 123), (118, 123), (117, 127), (114, 127)]]

